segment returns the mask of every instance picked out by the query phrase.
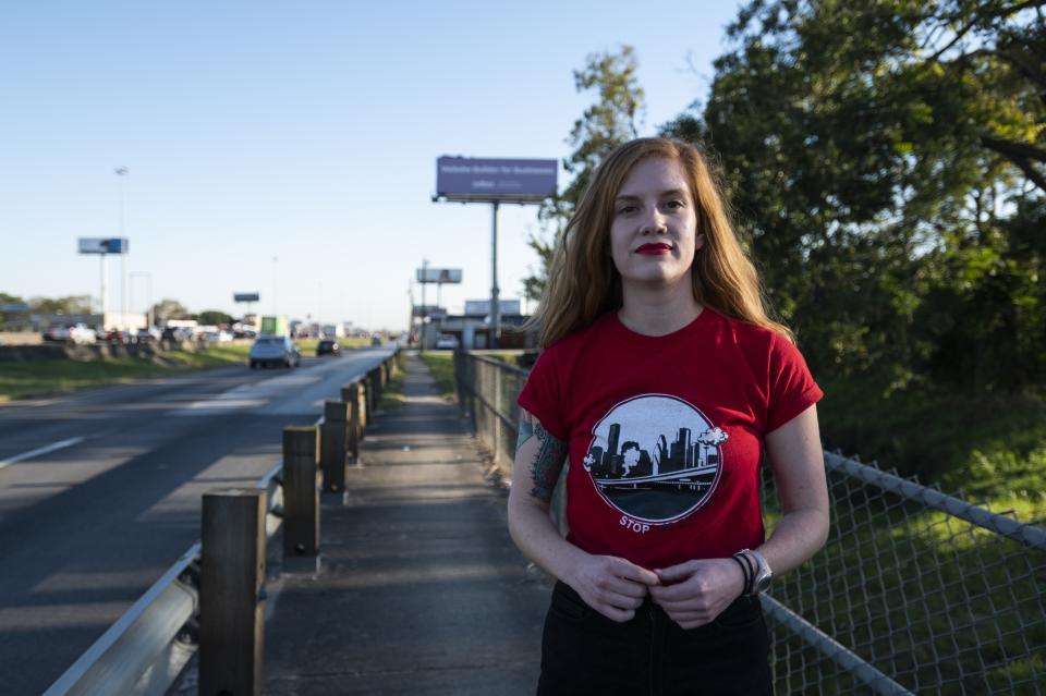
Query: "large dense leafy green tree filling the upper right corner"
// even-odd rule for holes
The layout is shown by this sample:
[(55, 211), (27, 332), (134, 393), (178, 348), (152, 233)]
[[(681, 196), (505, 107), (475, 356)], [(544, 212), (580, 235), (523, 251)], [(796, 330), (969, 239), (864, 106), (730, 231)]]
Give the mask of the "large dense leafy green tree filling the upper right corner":
[(756, 0), (703, 110), (812, 363), (972, 392), (1042, 380), (1041, 2)]

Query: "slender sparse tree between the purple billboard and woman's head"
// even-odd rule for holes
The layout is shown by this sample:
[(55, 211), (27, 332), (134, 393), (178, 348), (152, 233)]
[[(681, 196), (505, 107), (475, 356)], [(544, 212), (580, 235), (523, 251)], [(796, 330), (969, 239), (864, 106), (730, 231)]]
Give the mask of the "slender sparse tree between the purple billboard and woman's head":
[(545, 290), (548, 265), (559, 236), (573, 215), (582, 194), (588, 186), (593, 171), (603, 158), (622, 143), (638, 134), (644, 106), (643, 88), (636, 71), (638, 62), (631, 46), (622, 46), (617, 52), (592, 53), (582, 70), (574, 71), (574, 87), (579, 94), (595, 93), (595, 100), (574, 121), (567, 143), (573, 148), (563, 160), (563, 168), (573, 174), (563, 192), (542, 206), (538, 219), (543, 232), (527, 241), (537, 252), (542, 267), (523, 280), (523, 292), (538, 300)]

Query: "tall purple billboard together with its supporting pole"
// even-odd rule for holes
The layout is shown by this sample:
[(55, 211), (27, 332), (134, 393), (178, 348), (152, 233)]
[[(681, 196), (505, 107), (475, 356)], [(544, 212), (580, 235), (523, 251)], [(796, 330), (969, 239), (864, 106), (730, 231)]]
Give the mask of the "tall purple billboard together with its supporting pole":
[(556, 195), (555, 159), (474, 159), (440, 157), (436, 160), (433, 202), (489, 203), (490, 219), (490, 347), (498, 347), (501, 313), (498, 302), (498, 206), (501, 203), (540, 204)]

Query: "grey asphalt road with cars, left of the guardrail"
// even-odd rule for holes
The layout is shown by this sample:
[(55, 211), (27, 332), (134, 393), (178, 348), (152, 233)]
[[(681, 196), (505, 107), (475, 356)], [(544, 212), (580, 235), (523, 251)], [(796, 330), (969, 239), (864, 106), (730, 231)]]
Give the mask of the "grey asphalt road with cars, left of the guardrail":
[(390, 351), (0, 406), (0, 693), (45, 691), (199, 538), (202, 493), (254, 485)]

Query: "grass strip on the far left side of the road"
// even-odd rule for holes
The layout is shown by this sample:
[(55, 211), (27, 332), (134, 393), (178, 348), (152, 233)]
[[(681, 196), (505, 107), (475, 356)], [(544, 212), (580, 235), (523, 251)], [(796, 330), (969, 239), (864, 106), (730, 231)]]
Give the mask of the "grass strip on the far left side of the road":
[(184, 370), (246, 365), (250, 350), (250, 345), (234, 344), (199, 352), (172, 351), (162, 354), (165, 362), (129, 356), (97, 361), (0, 363), (0, 403), (88, 387), (133, 382)]

